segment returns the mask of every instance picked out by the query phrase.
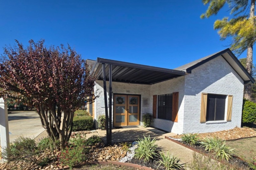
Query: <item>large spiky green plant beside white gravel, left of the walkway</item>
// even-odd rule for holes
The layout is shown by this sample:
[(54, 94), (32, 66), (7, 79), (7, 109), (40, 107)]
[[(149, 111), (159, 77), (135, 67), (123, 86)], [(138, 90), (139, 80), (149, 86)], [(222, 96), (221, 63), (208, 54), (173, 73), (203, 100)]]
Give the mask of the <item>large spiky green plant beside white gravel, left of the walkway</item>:
[(135, 149), (134, 157), (149, 162), (159, 156), (159, 147), (155, 144), (156, 139), (150, 136), (138, 139), (138, 148)]

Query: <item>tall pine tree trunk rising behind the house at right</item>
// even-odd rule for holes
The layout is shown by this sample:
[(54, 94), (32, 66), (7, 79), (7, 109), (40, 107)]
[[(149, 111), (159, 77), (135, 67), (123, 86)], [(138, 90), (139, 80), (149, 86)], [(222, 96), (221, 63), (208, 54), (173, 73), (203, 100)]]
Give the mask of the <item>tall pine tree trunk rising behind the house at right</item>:
[[(249, 19), (254, 17), (254, 8), (255, 8), (255, 0), (251, 0)], [(252, 73), (252, 54), (253, 54), (253, 44), (249, 44), (247, 47), (246, 69), (250, 74)], [(247, 100), (251, 100), (251, 84), (244, 85), (244, 98)]]

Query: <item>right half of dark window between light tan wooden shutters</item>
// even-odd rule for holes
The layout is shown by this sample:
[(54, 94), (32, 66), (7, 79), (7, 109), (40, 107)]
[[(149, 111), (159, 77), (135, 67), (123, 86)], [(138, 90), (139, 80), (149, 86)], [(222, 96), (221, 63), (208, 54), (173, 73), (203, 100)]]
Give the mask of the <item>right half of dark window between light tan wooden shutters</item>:
[(224, 95), (216, 95), (216, 121), (223, 121), (225, 115), (225, 100), (226, 96)]

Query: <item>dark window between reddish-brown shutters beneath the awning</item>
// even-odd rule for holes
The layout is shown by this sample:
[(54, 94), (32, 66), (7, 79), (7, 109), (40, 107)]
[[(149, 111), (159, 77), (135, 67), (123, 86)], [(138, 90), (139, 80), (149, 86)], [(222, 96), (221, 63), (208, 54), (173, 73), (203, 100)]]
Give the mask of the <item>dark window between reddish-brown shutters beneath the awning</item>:
[[(159, 110), (160, 109), (160, 102), (163, 102), (163, 100), (160, 100), (161, 96), (164, 96), (165, 99), (164, 99), (164, 102), (165, 102), (165, 106), (161, 106), (162, 108), (164, 108), (164, 113), (161, 113), (161, 111)], [(168, 101), (168, 97), (170, 99), (170, 101)], [(173, 102), (173, 93), (168, 93), (168, 94), (162, 94), (162, 95), (157, 95), (157, 118), (158, 119), (164, 119), (164, 120), (168, 120), (168, 121), (172, 121), (172, 102)], [(167, 105), (167, 103), (169, 105)], [(167, 108), (169, 107), (169, 110), (167, 110)], [(169, 112), (169, 113), (168, 113)], [(159, 117), (159, 113), (161, 113), (161, 116)], [(167, 116), (167, 114), (169, 114)], [(164, 117), (163, 117), (164, 115)]]

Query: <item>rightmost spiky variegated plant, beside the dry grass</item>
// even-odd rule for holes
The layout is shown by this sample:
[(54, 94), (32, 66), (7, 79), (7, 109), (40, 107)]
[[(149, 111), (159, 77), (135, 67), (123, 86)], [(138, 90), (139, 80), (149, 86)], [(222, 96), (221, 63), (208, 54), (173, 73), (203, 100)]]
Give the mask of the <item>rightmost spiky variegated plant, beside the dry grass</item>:
[(234, 149), (226, 146), (226, 143), (216, 143), (216, 146), (213, 146), (213, 154), (220, 160), (229, 160), (234, 155)]

